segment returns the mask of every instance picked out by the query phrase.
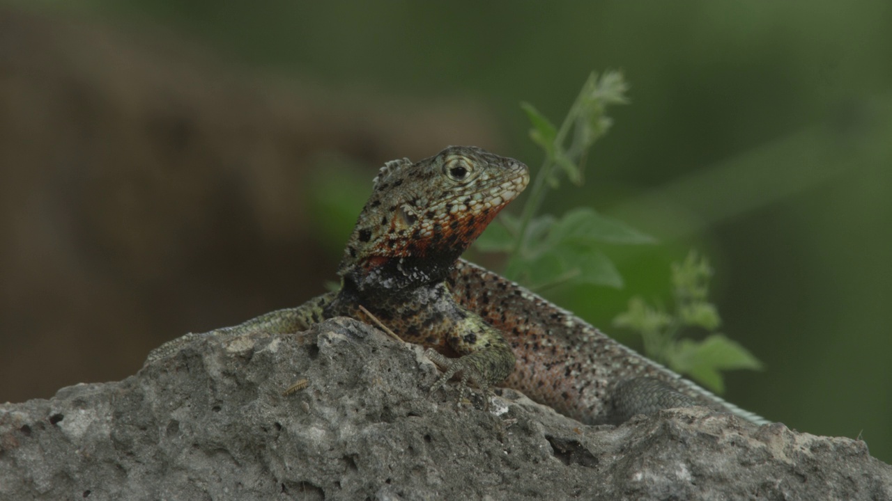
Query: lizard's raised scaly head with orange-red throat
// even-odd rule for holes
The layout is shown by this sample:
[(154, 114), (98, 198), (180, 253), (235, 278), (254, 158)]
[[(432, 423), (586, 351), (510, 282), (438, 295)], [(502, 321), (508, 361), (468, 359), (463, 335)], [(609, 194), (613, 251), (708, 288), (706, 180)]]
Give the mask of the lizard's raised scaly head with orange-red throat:
[(529, 180), (522, 162), (474, 146), (450, 146), (414, 163), (389, 161), (375, 178), (338, 274), (374, 275), (390, 264), (407, 278), (420, 273), (427, 276), (419, 280), (442, 280)]

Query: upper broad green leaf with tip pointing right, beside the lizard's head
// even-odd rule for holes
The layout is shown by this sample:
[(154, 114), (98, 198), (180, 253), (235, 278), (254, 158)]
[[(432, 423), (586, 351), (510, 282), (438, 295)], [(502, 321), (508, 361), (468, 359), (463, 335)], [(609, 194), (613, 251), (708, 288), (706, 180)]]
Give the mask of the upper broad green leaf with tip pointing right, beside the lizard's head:
[(602, 216), (589, 208), (574, 209), (558, 220), (551, 231), (556, 242), (608, 242), (642, 244), (656, 240), (622, 221)]

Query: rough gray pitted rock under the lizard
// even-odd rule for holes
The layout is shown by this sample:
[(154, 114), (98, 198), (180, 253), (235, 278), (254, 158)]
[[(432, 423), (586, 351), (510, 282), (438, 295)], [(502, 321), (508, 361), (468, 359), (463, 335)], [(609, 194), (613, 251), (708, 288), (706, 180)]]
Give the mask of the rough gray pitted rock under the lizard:
[(345, 318), (196, 342), (0, 405), (0, 499), (892, 498), (862, 441), (696, 407), (584, 426), (511, 390), (457, 409), (454, 388), (426, 395), (435, 378)]

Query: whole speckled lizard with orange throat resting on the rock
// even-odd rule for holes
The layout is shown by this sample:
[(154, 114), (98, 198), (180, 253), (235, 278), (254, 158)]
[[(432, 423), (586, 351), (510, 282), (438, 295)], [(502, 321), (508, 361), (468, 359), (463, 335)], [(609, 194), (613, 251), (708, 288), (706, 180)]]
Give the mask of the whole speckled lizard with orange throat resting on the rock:
[[(743, 410), (641, 356), (591, 324), (460, 255), (530, 180), (523, 162), (450, 146), (412, 162), (391, 160), (373, 181), (338, 267), (341, 287), (209, 333), (154, 349), (146, 363), (212, 335), (294, 333), (362, 308), (443, 368), (431, 391), (460, 374), (520, 390), (582, 423), (622, 423), (668, 407), (705, 406), (757, 424)], [(488, 403), (488, 398), (487, 398)]]

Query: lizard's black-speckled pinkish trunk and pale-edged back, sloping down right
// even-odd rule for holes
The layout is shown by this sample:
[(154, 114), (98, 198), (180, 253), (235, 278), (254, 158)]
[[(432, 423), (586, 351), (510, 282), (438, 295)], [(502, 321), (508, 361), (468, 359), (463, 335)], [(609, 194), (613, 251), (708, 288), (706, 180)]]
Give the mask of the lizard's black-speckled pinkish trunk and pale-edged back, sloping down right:
[(582, 423), (622, 421), (613, 401), (616, 385), (645, 377), (698, 405), (768, 423), (483, 267), (459, 259), (447, 282), (455, 300), (500, 330), (514, 351), (515, 370), (500, 386), (523, 391), (563, 415)]

